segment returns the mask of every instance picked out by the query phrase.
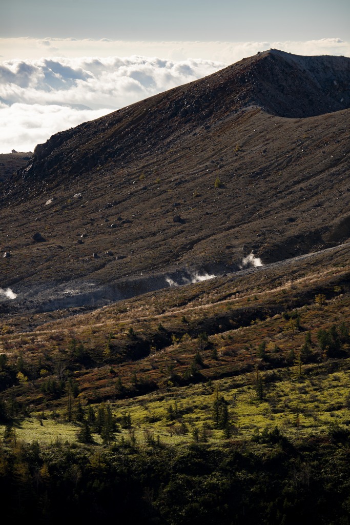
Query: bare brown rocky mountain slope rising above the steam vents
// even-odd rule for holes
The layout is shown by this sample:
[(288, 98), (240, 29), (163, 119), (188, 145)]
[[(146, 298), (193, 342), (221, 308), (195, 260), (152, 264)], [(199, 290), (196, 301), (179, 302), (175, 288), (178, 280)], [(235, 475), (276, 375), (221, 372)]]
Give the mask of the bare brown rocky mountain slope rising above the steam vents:
[(57, 133), (3, 184), (0, 286), (103, 303), (344, 242), (349, 84), (270, 50)]

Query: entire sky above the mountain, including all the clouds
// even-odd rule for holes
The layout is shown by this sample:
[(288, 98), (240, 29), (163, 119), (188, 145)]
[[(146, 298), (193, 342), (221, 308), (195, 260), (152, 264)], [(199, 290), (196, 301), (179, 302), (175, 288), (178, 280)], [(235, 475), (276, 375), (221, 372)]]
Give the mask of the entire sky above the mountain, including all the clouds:
[(0, 153), (271, 47), (350, 56), (350, 2), (2, 0)]

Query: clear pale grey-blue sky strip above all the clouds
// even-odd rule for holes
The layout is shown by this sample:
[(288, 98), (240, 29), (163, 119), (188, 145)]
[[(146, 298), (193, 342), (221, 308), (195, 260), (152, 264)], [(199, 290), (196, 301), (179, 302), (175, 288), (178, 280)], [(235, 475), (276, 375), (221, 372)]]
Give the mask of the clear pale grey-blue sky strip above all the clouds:
[(349, 0), (3, 0), (1, 37), (350, 39)]

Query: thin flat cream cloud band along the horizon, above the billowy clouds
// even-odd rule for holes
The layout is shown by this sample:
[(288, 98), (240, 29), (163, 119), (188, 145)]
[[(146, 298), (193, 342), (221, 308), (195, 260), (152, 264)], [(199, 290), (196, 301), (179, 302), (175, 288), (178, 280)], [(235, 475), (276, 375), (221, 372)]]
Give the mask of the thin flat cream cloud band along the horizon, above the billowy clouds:
[(350, 56), (350, 43), (341, 38), (321, 38), (318, 40), (287, 41), (126, 41), (102, 38), (0, 38), (0, 48), (5, 59), (26, 57), (39, 59), (56, 56), (160, 56), (172, 60), (186, 60), (188, 57), (201, 57), (232, 64), (243, 57), (254, 55), (257, 51), (277, 48), (300, 55), (344, 55)]

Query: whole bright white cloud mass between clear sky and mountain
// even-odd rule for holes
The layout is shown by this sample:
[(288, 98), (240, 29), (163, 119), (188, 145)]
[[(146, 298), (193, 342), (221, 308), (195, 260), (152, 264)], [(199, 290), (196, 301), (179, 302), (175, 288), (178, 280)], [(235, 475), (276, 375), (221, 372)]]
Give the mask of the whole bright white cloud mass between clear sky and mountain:
[[(57, 131), (210, 75), (259, 50), (350, 55), (350, 45), (339, 38), (274, 43), (0, 38), (0, 47), (0, 153), (33, 151)], [(140, 50), (147, 56), (137, 55)]]

